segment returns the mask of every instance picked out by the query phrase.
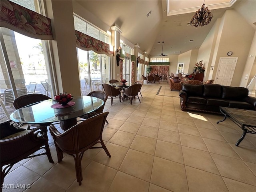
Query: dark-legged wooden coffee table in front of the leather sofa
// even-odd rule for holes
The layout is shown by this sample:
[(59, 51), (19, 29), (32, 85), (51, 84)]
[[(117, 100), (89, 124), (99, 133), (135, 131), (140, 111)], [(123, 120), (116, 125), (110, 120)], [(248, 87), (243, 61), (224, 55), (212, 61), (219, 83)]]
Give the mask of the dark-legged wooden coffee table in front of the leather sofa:
[(242, 128), (244, 131), (240, 139), (236, 142), (236, 146), (244, 139), (246, 133), (256, 134), (256, 111), (236, 109), (229, 107), (220, 107), (220, 112), (224, 114), (224, 119), (218, 121), (222, 122), (229, 117), (233, 122)]

